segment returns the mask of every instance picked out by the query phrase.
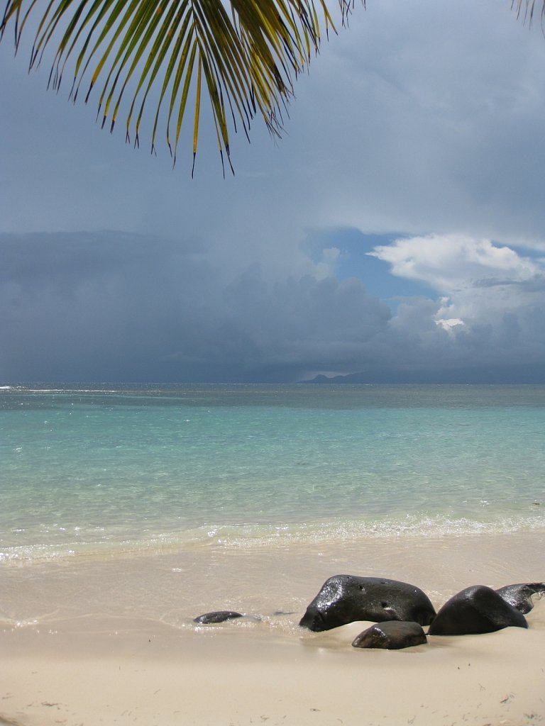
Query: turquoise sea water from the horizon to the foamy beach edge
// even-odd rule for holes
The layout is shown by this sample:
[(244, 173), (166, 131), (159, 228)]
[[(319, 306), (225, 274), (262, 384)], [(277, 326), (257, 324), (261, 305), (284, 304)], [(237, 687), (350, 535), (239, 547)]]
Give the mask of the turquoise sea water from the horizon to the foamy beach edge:
[(545, 528), (545, 386), (0, 390), (0, 558)]

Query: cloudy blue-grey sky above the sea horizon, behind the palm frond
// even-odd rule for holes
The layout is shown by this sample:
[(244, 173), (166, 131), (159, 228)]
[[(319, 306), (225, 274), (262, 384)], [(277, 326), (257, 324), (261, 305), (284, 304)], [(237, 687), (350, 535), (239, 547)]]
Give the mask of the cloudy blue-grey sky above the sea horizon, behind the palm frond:
[[(510, 0), (368, 0), (191, 179), (0, 44), (0, 385), (545, 383), (545, 36)], [(208, 133), (207, 133), (208, 132)]]

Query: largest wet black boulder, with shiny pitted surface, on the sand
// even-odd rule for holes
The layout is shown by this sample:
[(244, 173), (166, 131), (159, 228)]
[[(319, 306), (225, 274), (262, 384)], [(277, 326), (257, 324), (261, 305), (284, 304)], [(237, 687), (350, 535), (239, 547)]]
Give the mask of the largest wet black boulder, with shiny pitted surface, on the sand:
[(434, 617), (427, 595), (407, 582), (335, 575), (324, 582), (299, 625), (321, 632), (355, 620), (408, 620), (428, 625)]

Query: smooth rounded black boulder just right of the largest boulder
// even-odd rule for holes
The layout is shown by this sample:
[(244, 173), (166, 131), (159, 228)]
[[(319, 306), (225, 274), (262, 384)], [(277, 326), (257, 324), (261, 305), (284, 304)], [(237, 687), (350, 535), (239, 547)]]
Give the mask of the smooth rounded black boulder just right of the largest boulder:
[(429, 626), (428, 635), (491, 633), (511, 626), (527, 628), (528, 623), (496, 590), (473, 585), (443, 605)]

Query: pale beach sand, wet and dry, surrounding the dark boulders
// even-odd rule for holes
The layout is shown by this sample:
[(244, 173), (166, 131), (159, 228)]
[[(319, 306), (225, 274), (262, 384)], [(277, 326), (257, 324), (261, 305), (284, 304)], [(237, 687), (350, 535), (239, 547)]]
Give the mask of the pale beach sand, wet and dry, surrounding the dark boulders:
[[(402, 651), (351, 648), (367, 623), (323, 634), (296, 626), (332, 574), (413, 582), (438, 606), (470, 584), (543, 581), (543, 552), (544, 533), (530, 532), (2, 568), (0, 724), (543, 724), (545, 598), (535, 600), (528, 630), (430, 637)], [(102, 581), (110, 610), (97, 594)], [(166, 599), (161, 613), (148, 587)], [(130, 592), (132, 608), (123, 609)], [(261, 621), (191, 624), (244, 600)], [(294, 612), (273, 615), (286, 606)]]

